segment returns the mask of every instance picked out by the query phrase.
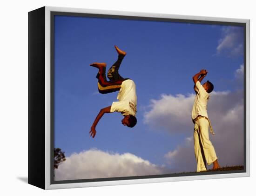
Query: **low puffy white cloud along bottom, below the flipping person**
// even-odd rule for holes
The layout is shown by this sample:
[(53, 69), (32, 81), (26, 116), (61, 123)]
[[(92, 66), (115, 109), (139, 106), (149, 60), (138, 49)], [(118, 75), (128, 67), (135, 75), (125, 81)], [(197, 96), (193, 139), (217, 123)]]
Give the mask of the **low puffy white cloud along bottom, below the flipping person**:
[(145, 176), (167, 172), (163, 166), (152, 164), (131, 153), (90, 149), (67, 157), (55, 170), (55, 180)]

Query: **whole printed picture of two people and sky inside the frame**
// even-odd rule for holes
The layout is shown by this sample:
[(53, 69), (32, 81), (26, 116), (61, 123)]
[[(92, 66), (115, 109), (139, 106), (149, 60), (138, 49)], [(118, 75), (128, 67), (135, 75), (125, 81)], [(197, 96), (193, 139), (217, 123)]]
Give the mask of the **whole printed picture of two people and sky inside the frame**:
[(244, 171), (244, 25), (53, 22), (54, 182)]

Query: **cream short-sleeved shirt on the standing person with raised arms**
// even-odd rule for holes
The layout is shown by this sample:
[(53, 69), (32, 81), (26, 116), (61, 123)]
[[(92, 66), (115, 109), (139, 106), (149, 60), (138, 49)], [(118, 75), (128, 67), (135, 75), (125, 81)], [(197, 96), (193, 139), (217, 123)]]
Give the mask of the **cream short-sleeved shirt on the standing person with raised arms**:
[(194, 120), (198, 115), (208, 118), (207, 101), (209, 100), (209, 93), (202, 87), (201, 83), (195, 83), (195, 101), (192, 109), (192, 119)]

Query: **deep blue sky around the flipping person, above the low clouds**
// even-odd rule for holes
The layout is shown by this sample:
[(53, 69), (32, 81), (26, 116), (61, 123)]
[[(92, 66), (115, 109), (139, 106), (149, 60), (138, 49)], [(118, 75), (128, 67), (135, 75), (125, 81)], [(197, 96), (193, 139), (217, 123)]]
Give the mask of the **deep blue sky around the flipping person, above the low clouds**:
[[(172, 133), (152, 125), (152, 119), (146, 122), (152, 100), (163, 94), (189, 96), (192, 76), (201, 69), (209, 71), (207, 80), (216, 92), (241, 89), (234, 81), (244, 63), (243, 27), (71, 16), (55, 16), (54, 24), (54, 147), (67, 157), (96, 148), (129, 152), (172, 168), (165, 155), (192, 136), (193, 123), (188, 132)], [(105, 62), (108, 69), (117, 59), (114, 45), (127, 52), (119, 72), (135, 81), (138, 123), (128, 128), (121, 124), (121, 114), (105, 114), (92, 139), (96, 115), (116, 101), (117, 92), (99, 94), (97, 70), (89, 64)]]

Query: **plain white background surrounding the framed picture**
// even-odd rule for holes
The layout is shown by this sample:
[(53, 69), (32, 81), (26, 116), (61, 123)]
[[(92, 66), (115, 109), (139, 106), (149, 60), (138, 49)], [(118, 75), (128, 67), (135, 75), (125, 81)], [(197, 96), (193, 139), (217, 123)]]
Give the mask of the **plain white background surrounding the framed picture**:
[[(0, 195), (233, 196), (256, 192), (253, 0), (3, 0), (0, 5)], [(41, 6), (251, 19), (251, 177), (47, 191), (27, 184), (27, 12)]]

